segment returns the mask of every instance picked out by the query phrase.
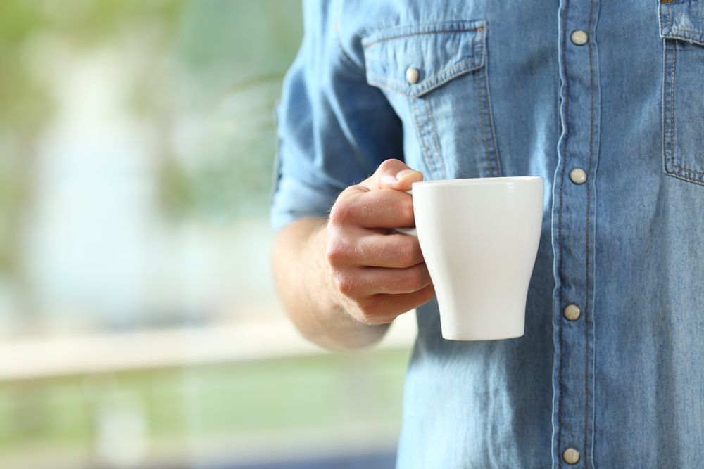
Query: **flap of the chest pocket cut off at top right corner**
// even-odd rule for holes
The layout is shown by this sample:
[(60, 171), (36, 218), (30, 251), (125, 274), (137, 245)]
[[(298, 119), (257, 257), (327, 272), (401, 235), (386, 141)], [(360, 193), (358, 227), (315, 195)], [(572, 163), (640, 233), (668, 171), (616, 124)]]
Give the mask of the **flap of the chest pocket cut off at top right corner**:
[(704, 3), (661, 0), (660, 37), (704, 45)]

